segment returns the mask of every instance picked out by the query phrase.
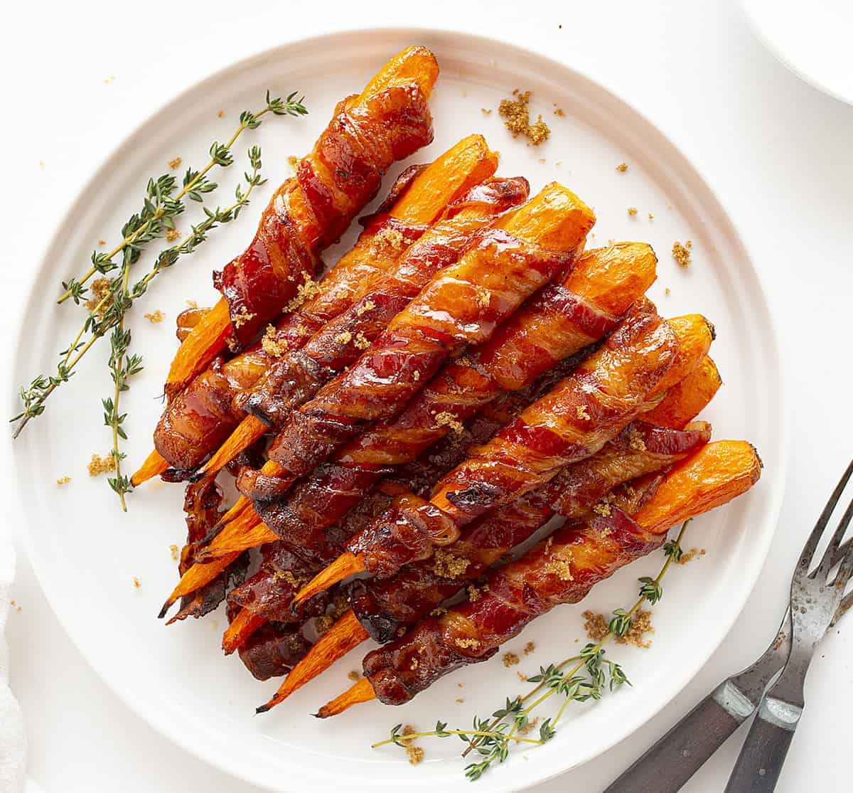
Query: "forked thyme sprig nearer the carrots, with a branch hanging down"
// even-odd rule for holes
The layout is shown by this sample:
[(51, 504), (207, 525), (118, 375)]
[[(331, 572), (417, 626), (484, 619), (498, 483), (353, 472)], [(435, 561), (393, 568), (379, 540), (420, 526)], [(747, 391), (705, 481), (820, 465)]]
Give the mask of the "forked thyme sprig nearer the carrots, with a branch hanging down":
[[(109, 292), (98, 301), (96, 306), (92, 306), (84, 324), (79, 329), (78, 334), (74, 337), (68, 347), (61, 351), (59, 362), (56, 365), (55, 374), (51, 376), (39, 375), (32, 380), (28, 388), (20, 389), (20, 399), (23, 402), (24, 410), (17, 416), (9, 419), (11, 423), (20, 421), (20, 424), (15, 429), (13, 437), (18, 437), (20, 431), (26, 427), (26, 424), (30, 419), (40, 416), (44, 412), (44, 403), (47, 401), (50, 394), (53, 394), (56, 388), (59, 388), (63, 382), (68, 382), (73, 375), (77, 364), (84, 355), (89, 352), (98, 339), (107, 335), (107, 333), (113, 328), (120, 329), (122, 334), (127, 332), (119, 327), (122, 324), (125, 313), (136, 300), (148, 291), (148, 285), (160, 274), (160, 272), (165, 270), (167, 267), (174, 265), (181, 256), (192, 254), (194, 249), (197, 248), (201, 242), (206, 240), (209, 232), (215, 229), (218, 225), (229, 223), (239, 216), (241, 209), (248, 204), (252, 191), (261, 184), (264, 184), (266, 181), (260, 176), (261, 150), (257, 146), (253, 146), (252, 149), (249, 149), (249, 162), (252, 166), (252, 171), (244, 174), (246, 178), (245, 190), (241, 185), (237, 185), (235, 190), (235, 201), (229, 207), (225, 207), (223, 209), (217, 207), (217, 209), (211, 210), (207, 207), (203, 207), (206, 216), (205, 219), (203, 219), (199, 224), (191, 226), (191, 233), (181, 242), (171, 246), (171, 248), (165, 248), (162, 250), (160, 254), (158, 254), (151, 270), (130, 288), (126, 286), (126, 277), (129, 272), (130, 265), (127, 264), (124, 266), (122, 278), (113, 281)], [(124, 336), (122, 336), (121, 339), (115, 336), (113, 336), (113, 338), (116, 338), (120, 343), (118, 347), (113, 347), (113, 351), (110, 355), (110, 370), (113, 372), (114, 382), (126, 386), (127, 377), (135, 373), (131, 370), (138, 371), (138, 367), (142, 365), (142, 359), (139, 359), (138, 356), (131, 356), (131, 359), (127, 359), (127, 346), (123, 344)], [(127, 336), (127, 343), (130, 343), (129, 335)], [(121, 347), (124, 347), (124, 350), (120, 353), (117, 352)], [(121, 363), (122, 361), (124, 361), (124, 363)], [(113, 363), (116, 364), (116, 370), (113, 370)], [(117, 374), (118, 376), (116, 376)], [(106, 413), (110, 413), (110, 421), (107, 422), (107, 425), (110, 427), (113, 426), (113, 414), (116, 418), (116, 438), (113, 439), (115, 441), (113, 444), (113, 452), (117, 452), (118, 438), (126, 437), (124, 429), (121, 428), (121, 423), (123, 423), (125, 417), (119, 414), (118, 395), (122, 390), (126, 390), (126, 388), (119, 388), (118, 391), (113, 393), (112, 405), (109, 409), (107, 409), (106, 400), (104, 403), (105, 421), (107, 420)], [(120, 432), (119, 429), (121, 429)], [(116, 463), (119, 463), (119, 459), (116, 460)], [(119, 493), (119, 498), (122, 499), (122, 502), (124, 503), (124, 493), (127, 493), (130, 490), (130, 481), (125, 481), (126, 477), (122, 477), (118, 471), (115, 480), (115, 485), (113, 485), (113, 481), (111, 481), (110, 484), (113, 486), (113, 489)]]

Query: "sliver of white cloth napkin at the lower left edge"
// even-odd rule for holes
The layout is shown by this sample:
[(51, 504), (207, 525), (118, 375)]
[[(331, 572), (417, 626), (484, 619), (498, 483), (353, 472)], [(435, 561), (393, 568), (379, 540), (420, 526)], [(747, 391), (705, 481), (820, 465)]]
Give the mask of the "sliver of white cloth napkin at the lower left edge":
[(20, 793), (26, 768), (26, 736), (20, 705), (9, 688), (6, 620), (15, 579), (15, 545), (9, 526), (0, 525), (0, 793)]

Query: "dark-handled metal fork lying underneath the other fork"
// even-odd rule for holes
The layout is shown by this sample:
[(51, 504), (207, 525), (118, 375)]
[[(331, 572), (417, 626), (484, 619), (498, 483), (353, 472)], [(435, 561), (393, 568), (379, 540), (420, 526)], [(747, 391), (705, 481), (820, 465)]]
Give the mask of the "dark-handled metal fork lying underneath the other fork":
[[(853, 463), (850, 463), (833, 492), (815, 527), (815, 532), (821, 528), (822, 533), (822, 529), (826, 527), (829, 515), (838, 503), (851, 474), (853, 474)], [(810, 541), (811, 538), (809, 538)], [(808, 548), (807, 542), (804, 553)], [(853, 552), (853, 539), (847, 540), (844, 545), (835, 549), (832, 566), (834, 567), (851, 552)], [(814, 547), (811, 548), (810, 554), (814, 554)], [(806, 567), (808, 568), (808, 563)], [(819, 570), (820, 568), (815, 573)], [(843, 592), (843, 586), (841, 590)], [(838, 605), (830, 627), (838, 622), (850, 606), (853, 606), (853, 592), (843, 598)], [(663, 738), (647, 749), (606, 789), (605, 793), (647, 793), (648, 790), (655, 790), (657, 793), (674, 793), (680, 790), (682, 785), (687, 783), (688, 779), (755, 711), (764, 690), (788, 660), (792, 647), (791, 633), (789, 606), (785, 616), (782, 617), (778, 633), (762, 656), (750, 667), (717, 685), (717, 688), (711, 691), (676, 726), (673, 726)]]

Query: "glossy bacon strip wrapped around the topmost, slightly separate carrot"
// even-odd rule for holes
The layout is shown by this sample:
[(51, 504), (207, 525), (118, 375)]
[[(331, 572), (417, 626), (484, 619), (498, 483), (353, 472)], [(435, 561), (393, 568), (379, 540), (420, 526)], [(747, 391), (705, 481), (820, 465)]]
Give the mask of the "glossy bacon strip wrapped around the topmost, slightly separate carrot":
[[(214, 277), (241, 346), (293, 300), (304, 275), (313, 276), (320, 251), (373, 199), (388, 166), (431, 141), (427, 97), (417, 85), (392, 85), (365, 102), (339, 103), (296, 177), (276, 191), (252, 244)], [(308, 223), (294, 223), (294, 201), (310, 216)]]

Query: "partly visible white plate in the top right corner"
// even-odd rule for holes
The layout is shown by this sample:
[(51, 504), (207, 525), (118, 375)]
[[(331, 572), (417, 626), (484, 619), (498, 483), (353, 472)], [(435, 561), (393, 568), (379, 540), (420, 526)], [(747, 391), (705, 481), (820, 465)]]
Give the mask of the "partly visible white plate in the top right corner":
[(809, 85), (853, 104), (853, 3), (743, 0), (752, 30), (773, 55)]

